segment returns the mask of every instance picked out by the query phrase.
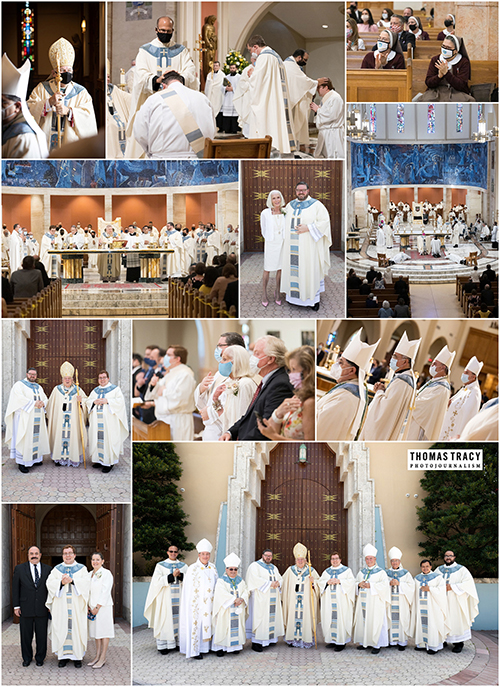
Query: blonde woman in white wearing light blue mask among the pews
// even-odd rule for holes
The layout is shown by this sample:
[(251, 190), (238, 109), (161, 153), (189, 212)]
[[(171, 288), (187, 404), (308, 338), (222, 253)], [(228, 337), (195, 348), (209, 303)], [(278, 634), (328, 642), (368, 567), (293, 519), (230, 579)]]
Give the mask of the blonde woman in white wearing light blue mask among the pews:
[(254, 396), (257, 383), (250, 372), (250, 353), (243, 346), (227, 346), (222, 352), (219, 372), (227, 376), (214, 392), (208, 415), (222, 421), (221, 434), (242, 417)]

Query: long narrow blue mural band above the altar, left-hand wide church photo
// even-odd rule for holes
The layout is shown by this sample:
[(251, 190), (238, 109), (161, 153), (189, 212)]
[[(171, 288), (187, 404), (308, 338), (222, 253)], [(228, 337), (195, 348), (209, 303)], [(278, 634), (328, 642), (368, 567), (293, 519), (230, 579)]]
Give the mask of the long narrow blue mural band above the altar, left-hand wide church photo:
[(2, 185), (23, 188), (165, 188), (238, 181), (237, 160), (9, 160)]

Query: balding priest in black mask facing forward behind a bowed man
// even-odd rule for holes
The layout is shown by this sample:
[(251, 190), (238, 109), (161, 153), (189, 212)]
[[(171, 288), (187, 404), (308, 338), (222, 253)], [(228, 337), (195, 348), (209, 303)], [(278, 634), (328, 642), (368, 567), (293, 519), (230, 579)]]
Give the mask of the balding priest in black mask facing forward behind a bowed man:
[(139, 48), (135, 58), (135, 76), (132, 89), (130, 119), (127, 127), (126, 158), (144, 157), (144, 150), (133, 135), (137, 112), (150, 95), (163, 88), (163, 77), (176, 71), (184, 77), (185, 85), (197, 91), (199, 86), (196, 67), (189, 50), (172, 40), (174, 22), (170, 17), (160, 17), (156, 22), (156, 38)]

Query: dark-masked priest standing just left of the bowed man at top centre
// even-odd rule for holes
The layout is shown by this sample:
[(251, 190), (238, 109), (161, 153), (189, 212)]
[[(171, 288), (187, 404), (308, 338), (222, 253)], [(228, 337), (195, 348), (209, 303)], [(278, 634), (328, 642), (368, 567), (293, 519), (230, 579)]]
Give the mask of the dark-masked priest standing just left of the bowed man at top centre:
[(283, 62), (288, 83), (289, 105), (292, 108), (293, 130), (298, 145), (309, 146), (309, 113), (312, 99), (318, 88), (318, 81), (310, 79), (303, 68), (307, 65), (309, 54), (297, 49)]

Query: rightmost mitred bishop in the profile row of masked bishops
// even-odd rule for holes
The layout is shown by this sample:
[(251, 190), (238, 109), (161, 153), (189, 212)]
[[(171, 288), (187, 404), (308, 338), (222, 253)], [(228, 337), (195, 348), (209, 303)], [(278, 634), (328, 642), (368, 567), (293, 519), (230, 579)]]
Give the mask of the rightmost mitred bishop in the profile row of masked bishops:
[(465, 425), (475, 417), (481, 407), (481, 387), (478, 376), (482, 362), (473, 356), (462, 372), (463, 387), (452, 397), (441, 427), (439, 441), (454, 441), (460, 438)]

